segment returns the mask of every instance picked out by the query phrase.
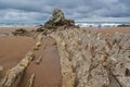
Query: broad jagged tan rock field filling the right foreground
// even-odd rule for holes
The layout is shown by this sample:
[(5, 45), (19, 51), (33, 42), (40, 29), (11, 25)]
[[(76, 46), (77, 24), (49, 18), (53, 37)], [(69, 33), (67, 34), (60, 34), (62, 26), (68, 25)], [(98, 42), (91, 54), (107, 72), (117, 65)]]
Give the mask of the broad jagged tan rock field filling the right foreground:
[(51, 37), (58, 47), (63, 87), (130, 86), (130, 34), (75, 28)]

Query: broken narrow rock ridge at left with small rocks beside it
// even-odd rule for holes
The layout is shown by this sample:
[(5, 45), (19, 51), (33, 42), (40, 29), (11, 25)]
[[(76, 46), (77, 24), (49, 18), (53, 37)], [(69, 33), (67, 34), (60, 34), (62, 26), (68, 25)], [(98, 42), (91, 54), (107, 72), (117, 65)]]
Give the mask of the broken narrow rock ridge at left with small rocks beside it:
[[(39, 34), (37, 36), (36, 40), (37, 40), (37, 42), (35, 45), (35, 48), (37, 48), (37, 50), (39, 50), (39, 47), (41, 46), (42, 34)], [(25, 70), (27, 69), (30, 61), (35, 57), (34, 50), (29, 51), (26, 54), (26, 57), (16, 66), (9, 70), (3, 78), (0, 78), (0, 87), (18, 87), (18, 83), (21, 82), (23, 75), (25, 74)], [(40, 62), (40, 60), (41, 60), (41, 58), (38, 60), (38, 63)], [(2, 70), (3, 70), (3, 67), (0, 66), (0, 72)], [(32, 87), (34, 79), (35, 79), (35, 74), (31, 75), (26, 87)]]

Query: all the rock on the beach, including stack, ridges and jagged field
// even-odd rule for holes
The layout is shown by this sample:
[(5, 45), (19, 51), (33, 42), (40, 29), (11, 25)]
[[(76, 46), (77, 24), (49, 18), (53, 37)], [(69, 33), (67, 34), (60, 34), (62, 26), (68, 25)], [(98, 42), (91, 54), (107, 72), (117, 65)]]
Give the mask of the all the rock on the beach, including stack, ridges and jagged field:
[[(56, 40), (62, 87), (130, 87), (130, 34), (101, 34), (88, 28), (76, 28), (75, 22), (66, 20), (58, 9), (53, 11), (52, 17), (37, 32), (42, 33), (38, 33), (32, 52), (28, 52), (25, 59), (6, 72), (0, 87), (18, 87), (34, 52), (40, 49), (42, 37), (48, 34)], [(17, 29), (13, 34), (28, 33)], [(46, 45), (42, 49), (44, 48)], [(40, 64), (41, 60), (42, 57), (39, 55), (36, 64)], [(26, 87), (31, 87), (34, 79), (35, 74)]]

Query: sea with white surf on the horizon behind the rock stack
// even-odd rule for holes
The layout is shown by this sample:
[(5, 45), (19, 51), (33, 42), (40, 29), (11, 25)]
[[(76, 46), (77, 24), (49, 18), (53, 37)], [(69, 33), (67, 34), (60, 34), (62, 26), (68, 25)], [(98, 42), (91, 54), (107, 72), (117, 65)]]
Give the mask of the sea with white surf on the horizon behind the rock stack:
[[(0, 22), (0, 27), (10, 26), (39, 26), (43, 25), (44, 21), (6, 21)], [(116, 27), (118, 25), (130, 25), (130, 22), (76, 22), (80, 27)]]

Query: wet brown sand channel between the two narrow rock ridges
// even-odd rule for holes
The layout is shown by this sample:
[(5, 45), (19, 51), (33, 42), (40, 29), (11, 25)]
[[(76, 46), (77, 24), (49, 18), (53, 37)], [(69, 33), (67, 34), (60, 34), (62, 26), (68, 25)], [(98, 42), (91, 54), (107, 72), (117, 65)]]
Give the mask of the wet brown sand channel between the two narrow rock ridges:
[[(36, 64), (36, 60), (42, 57), (40, 64)], [(61, 87), (61, 71), (60, 71), (60, 57), (55, 40), (47, 37), (42, 40), (42, 45), (35, 53), (35, 60), (27, 67), (18, 87), (25, 87), (27, 79), (35, 73), (36, 78), (34, 87)]]

